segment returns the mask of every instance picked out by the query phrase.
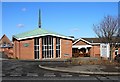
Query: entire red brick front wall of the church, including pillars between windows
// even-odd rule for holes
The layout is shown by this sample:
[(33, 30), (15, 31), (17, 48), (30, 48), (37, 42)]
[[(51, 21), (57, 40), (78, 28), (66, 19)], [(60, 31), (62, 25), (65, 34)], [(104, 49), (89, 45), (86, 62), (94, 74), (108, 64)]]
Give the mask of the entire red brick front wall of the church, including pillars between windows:
[[(72, 40), (60, 39), (61, 41), (61, 58), (72, 57)], [(40, 38), (40, 59), (42, 59), (42, 38)], [(29, 46), (25, 47), (24, 44)], [(56, 38), (53, 38), (54, 58), (56, 58)], [(64, 54), (69, 54), (64, 56)], [(14, 58), (18, 59), (34, 59), (34, 39), (16, 41), (14, 40)]]

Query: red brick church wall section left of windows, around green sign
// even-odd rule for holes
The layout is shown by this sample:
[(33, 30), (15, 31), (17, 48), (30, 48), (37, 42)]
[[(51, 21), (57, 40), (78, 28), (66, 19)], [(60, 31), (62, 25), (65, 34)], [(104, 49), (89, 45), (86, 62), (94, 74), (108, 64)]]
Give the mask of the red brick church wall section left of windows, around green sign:
[[(24, 44), (29, 46), (25, 47)], [(14, 58), (18, 59), (34, 59), (34, 39), (14, 41)]]

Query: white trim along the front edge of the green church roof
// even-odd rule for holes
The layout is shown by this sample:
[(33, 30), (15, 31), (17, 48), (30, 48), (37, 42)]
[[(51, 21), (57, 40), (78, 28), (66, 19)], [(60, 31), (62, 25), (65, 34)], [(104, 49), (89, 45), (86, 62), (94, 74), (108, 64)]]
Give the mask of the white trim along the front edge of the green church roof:
[(29, 36), (29, 37), (24, 37), (24, 38), (16, 38), (16, 37), (14, 37), (14, 38), (16, 38), (17, 40), (23, 40), (23, 39), (27, 39), (27, 38), (35, 38), (35, 37), (47, 36), (47, 35), (57, 36), (57, 37), (61, 37), (61, 38), (67, 38), (67, 39), (74, 40), (74, 38), (66, 37), (66, 36), (61, 36), (61, 35), (56, 35), (56, 34), (42, 34), (42, 35)]

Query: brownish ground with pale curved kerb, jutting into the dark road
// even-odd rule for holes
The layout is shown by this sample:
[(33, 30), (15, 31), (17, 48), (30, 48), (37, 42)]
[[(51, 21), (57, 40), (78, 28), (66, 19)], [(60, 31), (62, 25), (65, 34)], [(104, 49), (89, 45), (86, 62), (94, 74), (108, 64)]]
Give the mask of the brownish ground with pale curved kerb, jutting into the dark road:
[[(79, 74), (89, 74), (89, 75), (120, 75), (120, 67), (112, 66), (109, 68), (107, 66), (100, 65), (80, 65), (80, 66), (42, 66), (40, 68), (52, 71), (79, 73)], [(114, 69), (113, 69), (114, 68)], [(110, 70), (111, 69), (111, 70)]]

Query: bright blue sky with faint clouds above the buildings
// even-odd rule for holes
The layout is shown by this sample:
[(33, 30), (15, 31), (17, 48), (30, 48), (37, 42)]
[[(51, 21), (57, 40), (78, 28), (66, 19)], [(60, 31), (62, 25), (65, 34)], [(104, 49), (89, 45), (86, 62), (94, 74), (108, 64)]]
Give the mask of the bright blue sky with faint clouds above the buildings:
[(118, 16), (118, 2), (2, 2), (2, 34), (10, 40), (18, 33), (38, 28), (66, 36), (96, 37), (93, 24), (104, 16)]

